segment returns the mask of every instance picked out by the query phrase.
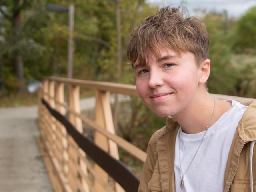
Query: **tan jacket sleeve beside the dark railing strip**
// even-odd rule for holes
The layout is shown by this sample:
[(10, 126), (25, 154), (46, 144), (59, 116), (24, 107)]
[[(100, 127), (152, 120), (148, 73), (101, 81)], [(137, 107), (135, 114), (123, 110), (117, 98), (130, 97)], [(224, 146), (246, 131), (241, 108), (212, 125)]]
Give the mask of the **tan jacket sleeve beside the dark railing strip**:
[(147, 158), (142, 169), (138, 192), (149, 192), (148, 182), (150, 181), (152, 174), (154, 172), (154, 167), (157, 159), (157, 153), (156, 153), (157, 140), (158, 140), (158, 131), (156, 131), (152, 135), (148, 143)]

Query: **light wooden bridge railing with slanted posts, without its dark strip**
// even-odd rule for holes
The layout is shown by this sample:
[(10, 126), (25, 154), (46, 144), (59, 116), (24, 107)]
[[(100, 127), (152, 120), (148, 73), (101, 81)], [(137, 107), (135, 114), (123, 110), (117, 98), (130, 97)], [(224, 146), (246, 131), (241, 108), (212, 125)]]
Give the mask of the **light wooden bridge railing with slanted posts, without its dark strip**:
[[(81, 114), (80, 88), (95, 90), (95, 117), (90, 119)], [(68, 100), (64, 95), (68, 90)], [(45, 148), (46, 166), (55, 191), (79, 192), (122, 192), (117, 182), (110, 182), (109, 175), (86, 156), (66, 127), (50, 113), (50, 108), (67, 116), (69, 122), (83, 134), (83, 123), (94, 129), (94, 143), (119, 159), (118, 147), (144, 162), (146, 153), (115, 134), (110, 93), (138, 97), (133, 85), (109, 82), (92, 82), (58, 77), (45, 77), (39, 92), (39, 125), (41, 145)], [(251, 101), (252, 99), (213, 94), (220, 99)], [(67, 103), (67, 104), (66, 104)]]

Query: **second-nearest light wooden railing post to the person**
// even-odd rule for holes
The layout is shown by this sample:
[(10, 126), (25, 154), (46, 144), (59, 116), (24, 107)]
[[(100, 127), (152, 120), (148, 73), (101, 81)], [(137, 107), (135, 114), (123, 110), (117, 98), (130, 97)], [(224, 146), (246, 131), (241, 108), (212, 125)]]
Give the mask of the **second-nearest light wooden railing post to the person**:
[[(77, 112), (80, 114), (80, 86), (78, 85), (70, 85), (69, 88), (69, 108), (72, 109), (73, 111)], [(69, 121), (76, 127), (76, 129), (82, 133), (83, 132), (83, 127), (82, 127), (82, 120), (75, 116), (74, 114), (72, 114), (71, 112), (68, 113), (68, 119)], [(82, 171), (85, 175), (88, 174), (87, 171), (87, 166), (84, 164), (80, 164), (80, 159), (79, 159), (79, 155), (82, 156), (83, 158), (85, 158), (85, 153), (84, 151), (80, 150), (77, 146), (77, 144), (75, 144), (74, 140), (69, 137), (69, 141), (74, 144), (74, 146), (76, 146), (77, 149), (77, 156), (74, 157), (76, 158), (76, 162), (78, 162), (78, 166), (80, 168), (80, 171)], [(90, 188), (88, 186), (88, 184), (86, 183), (86, 181), (83, 178), (80, 178), (81, 183), (82, 183), (82, 188), (85, 192), (89, 192)]]

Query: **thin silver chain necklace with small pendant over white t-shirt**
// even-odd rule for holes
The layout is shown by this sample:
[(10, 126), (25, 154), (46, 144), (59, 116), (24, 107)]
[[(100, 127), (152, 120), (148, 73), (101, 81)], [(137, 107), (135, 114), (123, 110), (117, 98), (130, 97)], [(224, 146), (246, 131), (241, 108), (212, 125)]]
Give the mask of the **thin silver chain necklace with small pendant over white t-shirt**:
[[(206, 135), (206, 132), (207, 132), (207, 130), (208, 130), (208, 128), (209, 128), (210, 122), (211, 122), (212, 117), (213, 117), (213, 115), (214, 115), (215, 105), (216, 105), (216, 99), (214, 98), (214, 108), (213, 108), (212, 116), (210, 117), (210, 120), (209, 120), (209, 122), (208, 122), (208, 124), (207, 124), (207, 126), (206, 126), (206, 129), (205, 129), (205, 132), (204, 132), (204, 136)], [(182, 131), (182, 130), (180, 130), (180, 132), (181, 132), (181, 131)], [(194, 157), (192, 158), (192, 160), (191, 160), (191, 162), (190, 162), (190, 164), (189, 164), (189, 166), (188, 166), (188, 168), (186, 169), (186, 171), (185, 171), (184, 174), (183, 174), (183, 172), (182, 172), (181, 160), (180, 160), (180, 171), (181, 171), (181, 174), (182, 174), (182, 178), (181, 178), (181, 181), (180, 181), (180, 188), (181, 188), (181, 189), (183, 189), (183, 186), (184, 186), (184, 180), (183, 180), (183, 179), (184, 179), (184, 175), (186, 174), (186, 172), (187, 172), (188, 169), (190, 168), (190, 165), (191, 165), (192, 162), (194, 161), (194, 158), (196, 157), (196, 154), (197, 154), (198, 150), (200, 149), (200, 146), (202, 145), (202, 142), (204, 141), (204, 136), (203, 136), (203, 138), (202, 138), (202, 140), (201, 140), (201, 142), (200, 142), (200, 144), (199, 144), (199, 146), (198, 146), (198, 148), (197, 148), (197, 150), (196, 150), (196, 153), (194, 154)], [(179, 133), (179, 137), (180, 137), (180, 133)], [(181, 140), (181, 137), (180, 137), (180, 140)], [(180, 142), (179, 142), (179, 153), (180, 153)], [(180, 154), (179, 154), (179, 155), (180, 155)]]

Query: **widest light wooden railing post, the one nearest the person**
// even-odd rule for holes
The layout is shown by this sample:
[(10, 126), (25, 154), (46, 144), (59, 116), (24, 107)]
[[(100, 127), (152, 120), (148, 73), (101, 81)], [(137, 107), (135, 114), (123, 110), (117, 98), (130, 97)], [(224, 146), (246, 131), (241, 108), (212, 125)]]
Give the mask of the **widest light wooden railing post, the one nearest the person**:
[[(95, 122), (101, 127), (105, 128), (108, 132), (115, 134), (114, 123), (112, 118), (111, 106), (110, 106), (110, 92), (96, 91), (96, 107), (95, 107)], [(119, 159), (118, 148), (115, 142), (108, 140), (105, 136), (99, 132), (95, 132), (94, 142), (100, 146), (106, 152), (109, 152), (114, 158)], [(102, 176), (105, 182), (108, 182), (108, 174), (102, 170), (98, 165), (95, 165), (95, 170)], [(115, 184), (117, 192), (123, 192), (119, 184)], [(96, 180), (94, 180), (94, 187), (96, 191), (105, 191), (103, 186)]]

